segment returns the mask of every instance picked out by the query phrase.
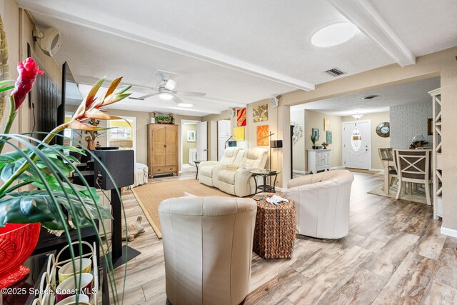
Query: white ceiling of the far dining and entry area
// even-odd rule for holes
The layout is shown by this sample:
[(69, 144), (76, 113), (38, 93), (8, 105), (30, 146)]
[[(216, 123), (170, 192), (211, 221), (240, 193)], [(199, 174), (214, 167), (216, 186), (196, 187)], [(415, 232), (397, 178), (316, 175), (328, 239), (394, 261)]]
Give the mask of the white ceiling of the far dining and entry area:
[[(389, 111), (389, 107), (408, 103), (430, 101), (428, 91), (440, 86), (440, 78), (423, 79), (406, 84), (388, 86), (382, 89), (348, 94), (321, 101), (291, 106), (291, 111), (303, 109), (320, 111), (336, 116), (351, 116), (353, 114), (372, 114)], [(364, 96), (378, 95), (375, 99), (363, 99)]]

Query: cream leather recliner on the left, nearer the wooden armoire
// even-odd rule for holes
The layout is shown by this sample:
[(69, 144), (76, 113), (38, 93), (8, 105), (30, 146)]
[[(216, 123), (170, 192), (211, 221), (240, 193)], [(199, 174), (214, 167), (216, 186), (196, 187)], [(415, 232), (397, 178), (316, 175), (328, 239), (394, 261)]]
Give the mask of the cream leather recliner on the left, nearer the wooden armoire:
[(204, 161), (199, 165), (199, 181), (207, 186), (219, 186), (217, 174), (221, 166), (233, 164), (236, 156), (243, 154), (241, 147), (227, 147), (221, 161)]

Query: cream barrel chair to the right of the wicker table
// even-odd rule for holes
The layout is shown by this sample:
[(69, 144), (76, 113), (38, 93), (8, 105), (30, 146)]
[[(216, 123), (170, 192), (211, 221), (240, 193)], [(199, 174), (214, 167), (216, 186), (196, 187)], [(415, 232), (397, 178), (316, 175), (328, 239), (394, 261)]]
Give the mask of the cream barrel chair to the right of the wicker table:
[(319, 239), (340, 239), (349, 231), (351, 171), (323, 171), (288, 182), (283, 196), (296, 206), (297, 232)]

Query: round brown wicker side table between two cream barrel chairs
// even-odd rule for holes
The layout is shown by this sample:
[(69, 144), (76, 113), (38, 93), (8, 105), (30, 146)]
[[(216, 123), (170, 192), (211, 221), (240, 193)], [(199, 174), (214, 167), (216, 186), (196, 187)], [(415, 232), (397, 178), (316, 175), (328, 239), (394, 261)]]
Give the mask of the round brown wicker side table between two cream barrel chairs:
[(254, 230), (253, 251), (263, 259), (288, 259), (292, 255), (296, 233), (295, 202), (278, 206), (266, 202), (267, 194), (257, 202), (256, 229)]

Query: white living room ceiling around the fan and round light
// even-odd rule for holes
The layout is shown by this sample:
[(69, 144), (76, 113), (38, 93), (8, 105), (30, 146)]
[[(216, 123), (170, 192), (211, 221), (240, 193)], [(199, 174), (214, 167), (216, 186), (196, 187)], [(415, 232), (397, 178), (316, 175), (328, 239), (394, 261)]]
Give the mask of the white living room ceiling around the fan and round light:
[[(195, 104), (190, 112), (157, 97), (116, 104), (139, 111), (219, 113), (312, 90), (334, 79), (323, 74), (334, 67), (351, 75), (395, 62), (403, 66), (457, 44), (455, 0), (17, 2), (41, 29), (61, 31), (56, 61), (67, 61), (79, 82), (122, 75), (126, 84), (147, 88), (156, 84), (156, 69), (163, 69), (179, 73), (176, 90), (207, 94), (181, 97)], [(346, 18), (361, 30), (350, 41), (328, 48), (309, 42), (316, 29)]]

